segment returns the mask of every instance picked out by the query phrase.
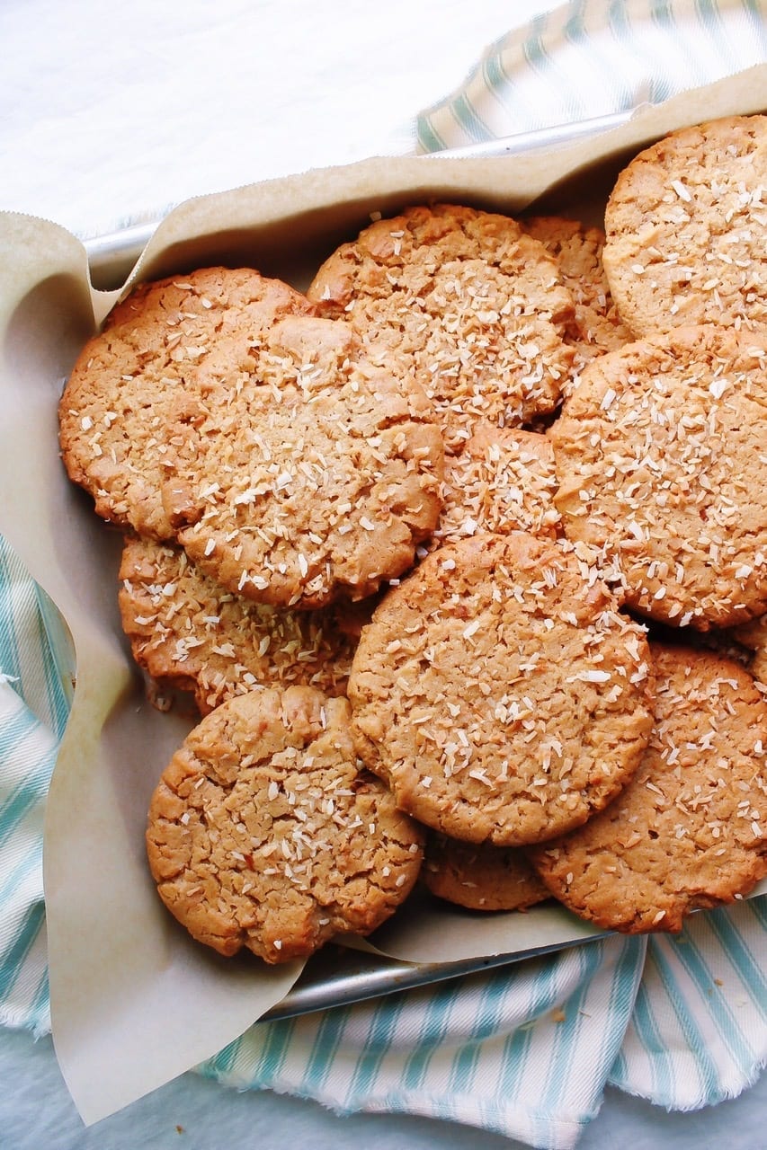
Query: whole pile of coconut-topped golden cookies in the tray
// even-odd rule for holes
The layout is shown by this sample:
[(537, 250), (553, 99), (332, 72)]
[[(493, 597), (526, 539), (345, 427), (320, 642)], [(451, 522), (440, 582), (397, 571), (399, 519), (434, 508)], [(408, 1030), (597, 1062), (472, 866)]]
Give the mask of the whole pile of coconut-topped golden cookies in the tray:
[(705, 124), (605, 232), (417, 206), (89, 343), (62, 457), (202, 716), (147, 828), (196, 938), (283, 961), (419, 879), (677, 930), (767, 874), (765, 186), (767, 117)]

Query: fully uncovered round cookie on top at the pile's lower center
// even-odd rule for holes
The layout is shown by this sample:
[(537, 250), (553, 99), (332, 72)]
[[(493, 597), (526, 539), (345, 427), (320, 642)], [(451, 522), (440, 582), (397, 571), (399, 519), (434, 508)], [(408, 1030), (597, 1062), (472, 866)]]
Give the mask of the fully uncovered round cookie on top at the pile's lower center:
[(584, 822), (652, 726), (644, 628), (569, 545), (521, 531), (446, 545), (390, 590), (348, 696), (359, 756), (397, 805), (498, 846)]

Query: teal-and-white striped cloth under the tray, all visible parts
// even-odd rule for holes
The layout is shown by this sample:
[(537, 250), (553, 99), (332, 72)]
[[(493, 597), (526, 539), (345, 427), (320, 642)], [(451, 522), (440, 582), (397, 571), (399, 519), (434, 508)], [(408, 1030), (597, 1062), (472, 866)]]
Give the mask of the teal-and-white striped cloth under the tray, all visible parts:
[[(767, 59), (762, 0), (578, 0), (493, 45), (419, 115), (420, 151), (628, 112)], [(587, 83), (584, 83), (587, 77)], [(67, 703), (45, 604), (0, 538), (0, 1023), (50, 1028), (43, 813)], [(676, 936), (608, 937), (257, 1023), (197, 1071), (339, 1112), (407, 1111), (568, 1150), (605, 1086), (688, 1110), (767, 1061), (767, 896)]]

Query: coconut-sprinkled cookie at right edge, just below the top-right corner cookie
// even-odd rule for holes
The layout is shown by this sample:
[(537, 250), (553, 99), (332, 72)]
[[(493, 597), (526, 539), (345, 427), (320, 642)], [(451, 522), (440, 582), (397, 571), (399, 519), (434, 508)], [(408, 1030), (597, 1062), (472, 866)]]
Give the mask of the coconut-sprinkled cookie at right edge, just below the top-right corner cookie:
[(585, 368), (552, 427), (568, 538), (675, 627), (767, 608), (767, 329), (681, 328)]

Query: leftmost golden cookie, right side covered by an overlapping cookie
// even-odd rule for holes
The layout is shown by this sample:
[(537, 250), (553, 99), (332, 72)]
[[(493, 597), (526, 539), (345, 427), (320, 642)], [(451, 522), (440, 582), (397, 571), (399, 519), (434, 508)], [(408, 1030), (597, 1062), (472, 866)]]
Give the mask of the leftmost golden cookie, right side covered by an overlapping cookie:
[(313, 310), (287, 284), (250, 268), (141, 284), (117, 304), (83, 348), (59, 404), (64, 466), (97, 513), (173, 538), (165, 489), (207, 391), (237, 385), (251, 369), (251, 344), (276, 320)]

